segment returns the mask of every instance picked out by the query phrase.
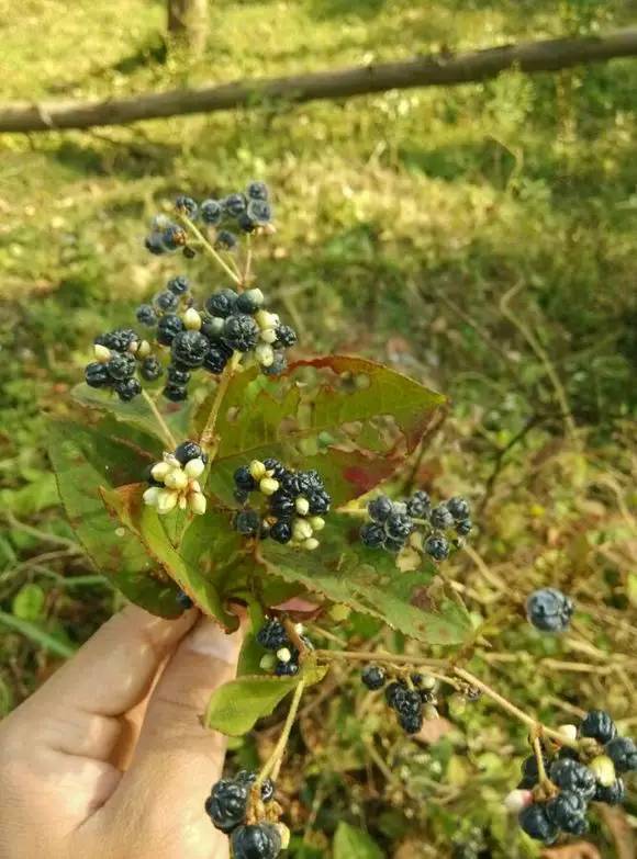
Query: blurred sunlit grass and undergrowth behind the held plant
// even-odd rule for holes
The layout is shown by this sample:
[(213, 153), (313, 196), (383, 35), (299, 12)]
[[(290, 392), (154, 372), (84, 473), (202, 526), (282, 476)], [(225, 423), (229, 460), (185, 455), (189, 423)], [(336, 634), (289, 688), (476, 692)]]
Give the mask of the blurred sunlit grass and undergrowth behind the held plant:
[[(128, 94), (594, 33), (636, 12), (634, 0), (221, 0), (191, 65), (167, 49), (159, 0), (78, 0), (63, 23), (56, 0), (27, 0), (3, 10), (3, 98)], [(64, 523), (44, 450), (49, 416), (72, 412), (87, 343), (174, 272), (144, 256), (144, 222), (177, 191), (262, 177), (279, 233), (260, 285), (306, 351), (380, 357), (454, 399), (417, 479), (480, 510), (472, 551), (449, 572), (476, 615), (495, 618), (474, 669), (554, 724), (604, 701), (634, 732), (635, 92), (637, 64), (622, 60), (1, 138), (0, 713), (119, 607)], [(203, 262), (191, 269), (224, 285)], [(560, 640), (515, 613), (549, 583), (580, 609)], [(337, 634), (382, 641), (357, 615)], [(537, 854), (501, 807), (525, 753), (516, 725), (479, 702), (445, 711), (443, 738), (414, 743), (349, 679), (332, 672), (309, 696), (294, 735), (281, 781), (292, 856), (337, 856), (351, 833), (362, 856), (375, 856), (369, 838), (395, 859)], [(265, 755), (279, 724), (275, 714), (233, 744), (233, 766)], [(635, 792), (627, 815), (634, 824)], [(604, 856), (618, 855), (619, 837), (605, 820), (590, 836)]]

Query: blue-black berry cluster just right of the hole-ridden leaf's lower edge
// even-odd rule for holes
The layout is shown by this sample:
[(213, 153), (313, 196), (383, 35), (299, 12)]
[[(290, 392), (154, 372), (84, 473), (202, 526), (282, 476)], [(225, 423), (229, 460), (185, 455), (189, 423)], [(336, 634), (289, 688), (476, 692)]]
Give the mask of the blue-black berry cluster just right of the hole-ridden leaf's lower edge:
[[(468, 536), (471, 531), (471, 511), (465, 498), (454, 497), (437, 507), (432, 507), (427, 493), (420, 489), (404, 501), (392, 501), (387, 495), (373, 498), (367, 505), (371, 521), (360, 529), (364, 545), (370, 549), (385, 549), (400, 552), (410, 542), (412, 534), (420, 531), (424, 540), (412, 540), (414, 547), (422, 545), (434, 561), (445, 561), (457, 538)], [(456, 538), (450, 536), (455, 532)]]

